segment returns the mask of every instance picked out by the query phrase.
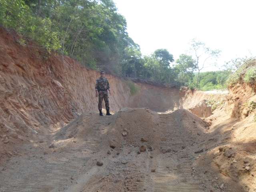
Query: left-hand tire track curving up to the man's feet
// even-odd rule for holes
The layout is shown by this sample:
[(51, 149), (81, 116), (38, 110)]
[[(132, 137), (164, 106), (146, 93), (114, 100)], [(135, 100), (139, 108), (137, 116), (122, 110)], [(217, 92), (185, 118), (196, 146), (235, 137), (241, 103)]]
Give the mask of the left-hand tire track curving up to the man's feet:
[[(98, 117), (96, 117), (98, 118)], [(99, 120), (90, 120), (95, 123)], [(106, 125), (111, 119), (101, 121)], [(100, 126), (88, 125), (88, 132), (81, 141), (76, 143), (76, 148), (65, 152), (56, 152), (47, 155), (45, 159), (27, 156), (17, 157), (6, 164), (19, 162), (9, 170), (0, 174), (1, 192), (57, 192), (63, 191), (73, 177), (84, 172), (87, 162), (93, 153), (98, 151), (101, 141)]]

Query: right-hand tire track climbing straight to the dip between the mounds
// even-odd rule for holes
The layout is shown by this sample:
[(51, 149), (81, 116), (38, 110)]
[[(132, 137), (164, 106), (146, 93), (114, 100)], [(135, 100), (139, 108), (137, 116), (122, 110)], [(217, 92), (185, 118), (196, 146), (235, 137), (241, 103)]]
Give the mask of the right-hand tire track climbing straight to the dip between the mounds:
[(203, 192), (199, 178), (192, 174), (190, 135), (182, 125), (181, 114), (160, 114), (162, 152), (153, 176), (154, 192)]

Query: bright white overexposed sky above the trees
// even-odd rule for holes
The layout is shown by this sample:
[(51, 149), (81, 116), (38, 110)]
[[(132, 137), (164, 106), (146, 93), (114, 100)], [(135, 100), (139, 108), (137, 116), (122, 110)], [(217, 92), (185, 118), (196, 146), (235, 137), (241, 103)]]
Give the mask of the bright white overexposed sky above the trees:
[(256, 56), (256, 0), (113, 0), (129, 36), (143, 55), (166, 48), (177, 59), (196, 38), (221, 50), (217, 67), (237, 57)]

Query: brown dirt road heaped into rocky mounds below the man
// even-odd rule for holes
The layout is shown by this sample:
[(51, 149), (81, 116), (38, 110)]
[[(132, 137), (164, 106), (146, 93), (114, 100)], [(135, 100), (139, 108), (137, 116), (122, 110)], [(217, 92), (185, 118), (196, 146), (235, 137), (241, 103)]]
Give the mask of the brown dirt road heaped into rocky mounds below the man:
[[(206, 123), (184, 109), (83, 114), (58, 132), (20, 146), (22, 153), (0, 166), (0, 191), (221, 191), (194, 167), (209, 138)], [(140, 146), (146, 151), (139, 152)]]

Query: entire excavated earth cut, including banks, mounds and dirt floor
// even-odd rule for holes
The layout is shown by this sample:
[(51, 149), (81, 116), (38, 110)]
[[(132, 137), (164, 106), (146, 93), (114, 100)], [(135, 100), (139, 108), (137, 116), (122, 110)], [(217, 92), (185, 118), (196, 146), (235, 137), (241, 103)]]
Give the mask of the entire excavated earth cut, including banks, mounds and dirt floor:
[(0, 192), (255, 191), (254, 148), (232, 140), (255, 124), (230, 119), (232, 97), (203, 120), (186, 109), (227, 96), (108, 75), (113, 115), (102, 117), (98, 72), (0, 32)]

